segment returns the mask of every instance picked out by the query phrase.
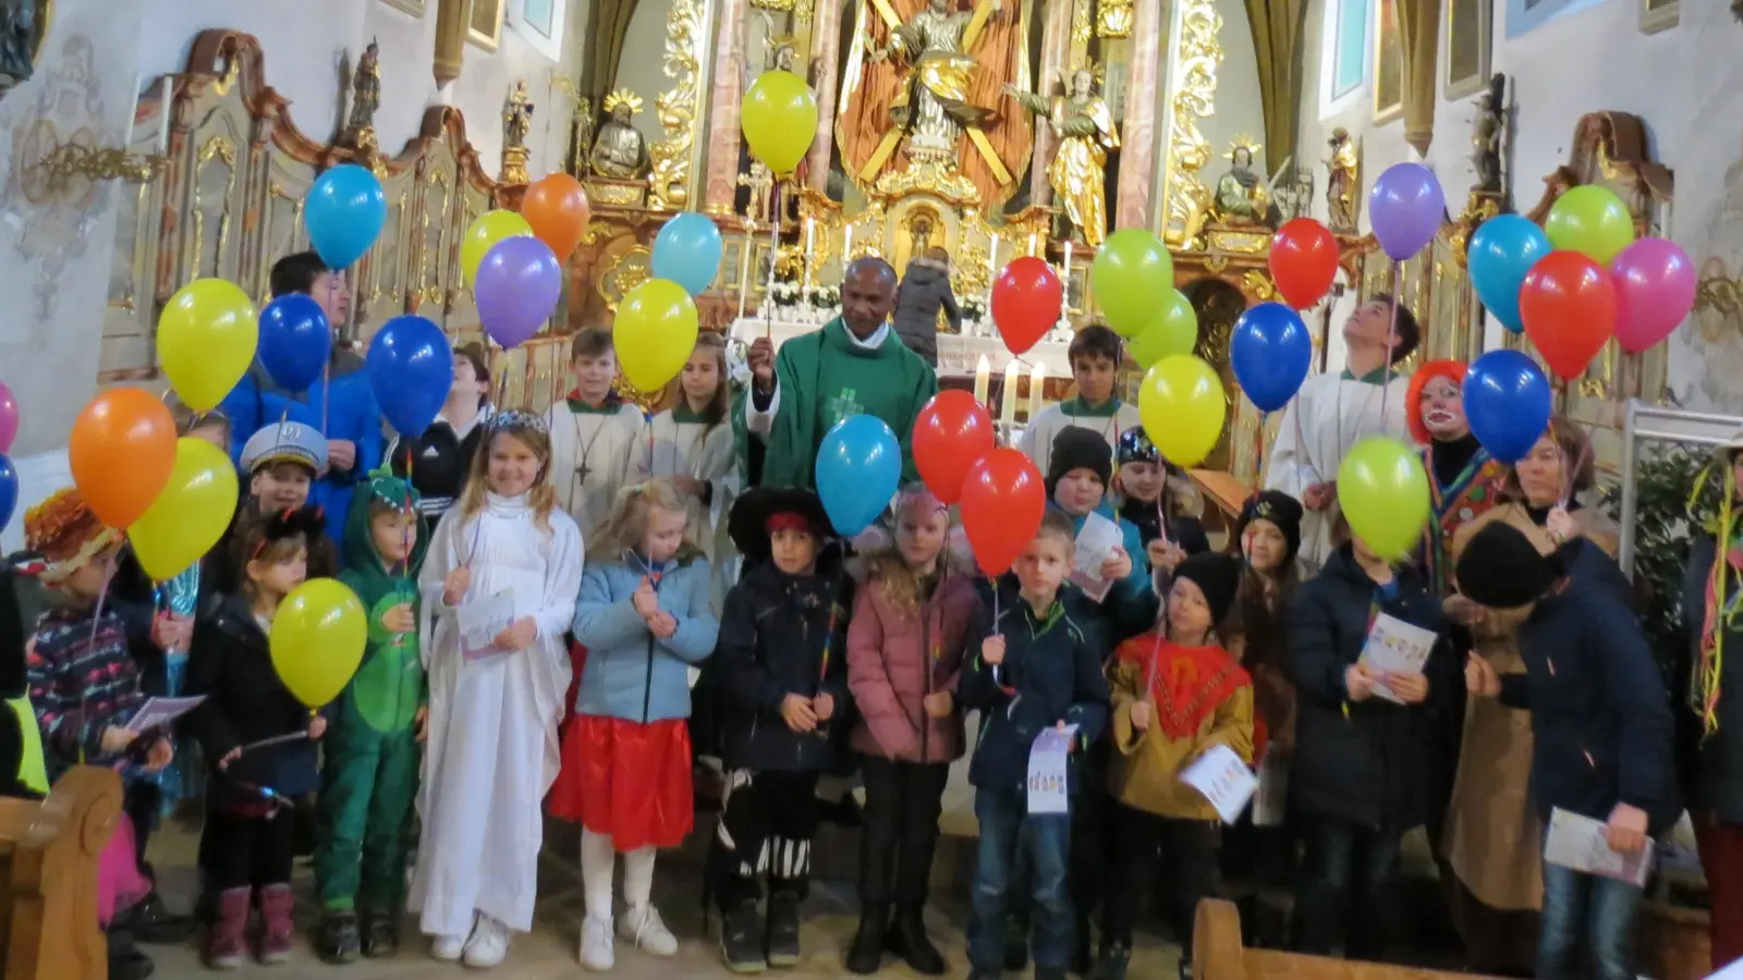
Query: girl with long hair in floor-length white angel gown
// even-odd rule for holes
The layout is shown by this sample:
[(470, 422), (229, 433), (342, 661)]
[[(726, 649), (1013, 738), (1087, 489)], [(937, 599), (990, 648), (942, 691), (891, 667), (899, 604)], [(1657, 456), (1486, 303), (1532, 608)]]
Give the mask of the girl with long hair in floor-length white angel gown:
[[(539, 800), (561, 762), (563, 633), (582, 563), (580, 532), (551, 480), (544, 420), (493, 415), (460, 504), (443, 516), (418, 574), (431, 713), (411, 909), (422, 910), (431, 956), (444, 963), (497, 966), (511, 931), (533, 926)], [(460, 607), (478, 602), (507, 603), (512, 612), (498, 617), (512, 619), (469, 642)]]

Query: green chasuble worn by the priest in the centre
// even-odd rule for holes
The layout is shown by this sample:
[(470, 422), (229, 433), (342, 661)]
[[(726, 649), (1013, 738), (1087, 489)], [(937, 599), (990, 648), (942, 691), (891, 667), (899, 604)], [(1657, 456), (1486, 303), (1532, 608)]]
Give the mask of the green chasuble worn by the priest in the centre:
[(851, 415), (889, 424), (901, 443), (903, 483), (919, 480), (910, 446), (913, 417), (938, 394), (938, 375), (894, 331), (868, 350), (837, 317), (783, 344), (774, 370), (781, 405), (763, 457), (763, 487), (812, 488), (823, 436)]

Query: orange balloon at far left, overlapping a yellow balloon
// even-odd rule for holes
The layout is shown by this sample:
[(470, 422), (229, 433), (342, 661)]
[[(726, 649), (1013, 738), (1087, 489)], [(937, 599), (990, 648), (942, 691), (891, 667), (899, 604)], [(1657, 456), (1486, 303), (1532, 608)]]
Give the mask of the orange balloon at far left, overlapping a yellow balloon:
[(145, 389), (110, 389), (78, 413), (66, 457), (73, 485), (91, 511), (108, 527), (125, 530), (169, 485), (176, 420)]

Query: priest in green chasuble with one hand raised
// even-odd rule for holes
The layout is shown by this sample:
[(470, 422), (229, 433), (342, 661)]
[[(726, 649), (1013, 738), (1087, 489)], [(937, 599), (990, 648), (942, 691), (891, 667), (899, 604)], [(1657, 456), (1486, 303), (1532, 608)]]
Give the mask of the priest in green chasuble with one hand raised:
[(889, 424), (901, 443), (903, 483), (919, 478), (913, 417), (938, 394), (938, 375), (891, 330), (894, 305), (896, 270), (882, 258), (858, 258), (842, 277), (842, 316), (788, 340), (779, 356), (769, 338), (751, 344), (751, 391), (736, 422), (762, 441), (755, 485), (810, 490), (823, 436), (852, 415)]

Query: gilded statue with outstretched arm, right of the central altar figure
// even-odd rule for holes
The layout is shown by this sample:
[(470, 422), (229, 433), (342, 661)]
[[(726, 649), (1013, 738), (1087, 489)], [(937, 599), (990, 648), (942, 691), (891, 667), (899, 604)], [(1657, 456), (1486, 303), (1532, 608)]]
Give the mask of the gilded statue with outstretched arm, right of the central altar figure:
[(1070, 94), (1051, 99), (1016, 85), (1004, 91), (1060, 134), (1060, 148), (1048, 164), (1048, 183), (1082, 241), (1100, 248), (1107, 239), (1107, 153), (1119, 148), (1119, 131), (1114, 113), (1095, 94), (1095, 71), (1072, 71)]

